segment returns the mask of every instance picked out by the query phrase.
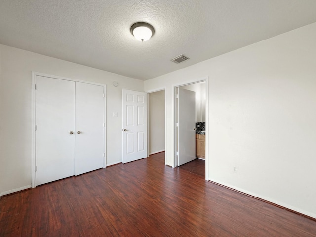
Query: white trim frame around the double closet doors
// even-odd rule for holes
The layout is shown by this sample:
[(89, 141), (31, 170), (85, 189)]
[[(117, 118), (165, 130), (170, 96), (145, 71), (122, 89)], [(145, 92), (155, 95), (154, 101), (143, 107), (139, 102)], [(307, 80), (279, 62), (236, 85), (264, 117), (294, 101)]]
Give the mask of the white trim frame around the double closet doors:
[[(103, 92), (104, 92), (104, 115), (103, 115), (103, 121), (104, 121), (104, 138), (103, 138), (103, 143), (104, 143), (104, 161), (103, 161), (103, 168), (106, 167), (106, 156), (107, 156), (107, 147), (106, 147), (106, 84), (100, 84), (96, 82), (91, 82), (91, 81), (85, 81), (85, 80), (79, 80), (79, 79), (71, 79), (71, 78), (66, 78), (66, 77), (60, 77), (60, 76), (55, 76), (55, 75), (50, 75), (50, 74), (45, 74), (45, 73), (39, 73), (39, 72), (34, 72), (31, 71), (31, 187), (35, 188), (36, 187), (36, 88), (35, 88), (35, 82), (36, 82), (36, 76), (42, 76), (42, 77), (47, 77), (47, 78), (54, 78), (54, 79), (62, 79), (62, 80), (69, 80), (69, 81), (74, 81), (74, 82), (83, 82), (83, 83), (88, 83), (92, 85), (99, 85), (103, 86)], [(74, 167), (75, 168), (75, 167)]]

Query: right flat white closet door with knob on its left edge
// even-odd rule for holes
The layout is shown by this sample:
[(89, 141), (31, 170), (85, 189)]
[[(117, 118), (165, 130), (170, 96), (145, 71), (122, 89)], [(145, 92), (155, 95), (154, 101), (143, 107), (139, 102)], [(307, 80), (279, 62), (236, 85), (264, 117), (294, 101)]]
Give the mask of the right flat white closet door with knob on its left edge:
[(103, 86), (76, 82), (75, 175), (104, 167)]

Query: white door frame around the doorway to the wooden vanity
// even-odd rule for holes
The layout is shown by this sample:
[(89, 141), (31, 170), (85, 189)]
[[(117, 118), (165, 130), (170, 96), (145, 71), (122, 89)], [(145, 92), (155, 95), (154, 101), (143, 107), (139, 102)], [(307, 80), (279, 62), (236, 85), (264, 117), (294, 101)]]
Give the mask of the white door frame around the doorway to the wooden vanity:
[(205, 128), (205, 180), (208, 180), (208, 165), (209, 165), (209, 160), (208, 160), (208, 134), (209, 134), (209, 116), (208, 116), (208, 77), (204, 78), (199, 78), (199, 79), (193, 79), (190, 82), (187, 83), (179, 83), (176, 85), (173, 85), (173, 124), (174, 124), (174, 160), (173, 160), (173, 167), (177, 167), (177, 111), (178, 111), (178, 106), (177, 106), (177, 88), (185, 85), (191, 85), (191, 84), (196, 84), (199, 82), (204, 82), (205, 81), (205, 123), (206, 123), (206, 128)]

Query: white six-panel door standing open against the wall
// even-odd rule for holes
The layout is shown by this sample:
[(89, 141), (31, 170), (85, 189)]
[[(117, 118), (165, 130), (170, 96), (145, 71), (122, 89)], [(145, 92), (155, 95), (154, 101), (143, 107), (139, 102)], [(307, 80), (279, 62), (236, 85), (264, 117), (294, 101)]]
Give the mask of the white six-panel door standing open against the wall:
[(147, 157), (147, 94), (123, 89), (123, 163)]

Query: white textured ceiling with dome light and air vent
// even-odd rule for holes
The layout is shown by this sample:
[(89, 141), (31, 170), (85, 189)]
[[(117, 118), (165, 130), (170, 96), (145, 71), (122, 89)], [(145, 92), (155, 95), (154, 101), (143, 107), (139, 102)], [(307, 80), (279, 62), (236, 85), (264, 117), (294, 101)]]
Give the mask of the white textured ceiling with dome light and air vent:
[(316, 0), (0, 0), (1, 44), (143, 80), (313, 22)]

